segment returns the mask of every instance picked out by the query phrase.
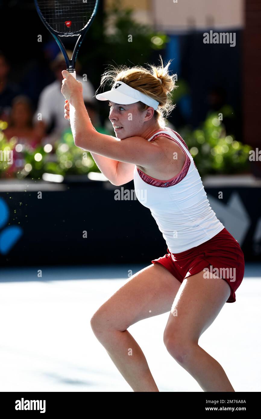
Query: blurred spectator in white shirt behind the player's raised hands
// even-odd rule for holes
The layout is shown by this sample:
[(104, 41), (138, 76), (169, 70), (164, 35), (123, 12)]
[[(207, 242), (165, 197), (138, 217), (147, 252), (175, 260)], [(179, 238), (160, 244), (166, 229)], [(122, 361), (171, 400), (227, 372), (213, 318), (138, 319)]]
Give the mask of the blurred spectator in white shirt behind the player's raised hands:
[[(72, 51), (67, 51), (69, 57), (72, 56)], [(62, 70), (66, 70), (65, 59), (62, 52), (52, 61), (51, 68), (55, 74), (56, 80), (50, 85), (46, 86), (39, 97), (38, 109), (34, 114), (34, 124), (41, 130), (42, 136), (46, 137), (44, 142), (51, 142), (60, 140), (62, 132), (70, 127), (70, 121), (64, 117), (65, 98), (61, 93), (62, 88)], [(95, 91), (92, 84), (78, 76), (81, 67), (80, 63), (76, 62), (77, 80), (83, 84), (83, 100), (86, 103), (95, 102)], [(39, 120), (41, 118), (41, 120)], [(48, 134), (48, 137), (47, 137)]]

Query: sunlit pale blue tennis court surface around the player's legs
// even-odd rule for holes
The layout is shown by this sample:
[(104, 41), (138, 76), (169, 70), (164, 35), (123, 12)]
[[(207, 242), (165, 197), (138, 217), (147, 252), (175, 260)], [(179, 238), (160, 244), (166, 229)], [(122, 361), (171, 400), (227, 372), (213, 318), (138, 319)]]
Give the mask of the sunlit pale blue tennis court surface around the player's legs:
[[(132, 392), (94, 336), (90, 318), (145, 266), (63, 266), (0, 270), (0, 391)], [(236, 302), (226, 303), (199, 345), (235, 391), (261, 391), (261, 264), (246, 264)], [(163, 343), (169, 313), (128, 328), (159, 391), (202, 389)], [(196, 316), (196, 313), (195, 313)]]

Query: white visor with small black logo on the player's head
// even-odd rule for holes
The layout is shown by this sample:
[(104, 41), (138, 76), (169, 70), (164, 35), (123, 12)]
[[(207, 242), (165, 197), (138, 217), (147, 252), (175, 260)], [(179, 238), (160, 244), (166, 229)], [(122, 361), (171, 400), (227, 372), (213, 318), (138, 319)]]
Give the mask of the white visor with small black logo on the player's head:
[(104, 93), (99, 93), (96, 95), (96, 99), (99, 101), (111, 101), (114, 103), (119, 103), (120, 105), (130, 105), (131, 103), (136, 103), (141, 101), (147, 106), (151, 106), (154, 110), (158, 108), (158, 101), (150, 98), (150, 96), (145, 95), (144, 93), (133, 89), (122, 81), (117, 81), (112, 86), (111, 90)]

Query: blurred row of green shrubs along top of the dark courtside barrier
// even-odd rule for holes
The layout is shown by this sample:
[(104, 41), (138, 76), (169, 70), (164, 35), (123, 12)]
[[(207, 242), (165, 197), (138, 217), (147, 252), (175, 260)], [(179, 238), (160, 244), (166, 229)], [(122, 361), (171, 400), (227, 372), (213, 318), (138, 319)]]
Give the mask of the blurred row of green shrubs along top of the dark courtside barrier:
[[(222, 108), (223, 116), (230, 113), (228, 106)], [(102, 132), (103, 129), (97, 131)], [(184, 127), (180, 133), (189, 147), (200, 176), (248, 171), (251, 147), (228, 135), (217, 113), (207, 116), (198, 129)], [(0, 131), (0, 150), (13, 150), (14, 160), (12, 165), (0, 160), (1, 177), (39, 179), (43, 173), (66, 176), (86, 175), (90, 171), (100, 172), (91, 154), (75, 146), (70, 129), (63, 133), (52, 150), (48, 150), (48, 147), (39, 146), (33, 149), (30, 145), (23, 145), (23, 149), (19, 151), (17, 146), (16, 137), (8, 141)]]

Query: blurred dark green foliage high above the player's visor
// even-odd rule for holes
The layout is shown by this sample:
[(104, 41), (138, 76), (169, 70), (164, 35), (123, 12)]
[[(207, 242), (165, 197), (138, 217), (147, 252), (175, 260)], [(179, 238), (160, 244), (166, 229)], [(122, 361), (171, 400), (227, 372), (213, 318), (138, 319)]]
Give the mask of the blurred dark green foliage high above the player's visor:
[[(131, 8), (119, 8), (114, 1), (103, 12), (103, 25), (94, 25), (92, 42), (95, 47), (81, 56), (83, 65), (99, 62), (101, 65), (144, 65), (153, 50), (165, 49), (169, 38), (162, 32), (155, 32), (152, 26), (137, 22)], [(93, 74), (93, 82), (100, 82), (100, 74)]]

